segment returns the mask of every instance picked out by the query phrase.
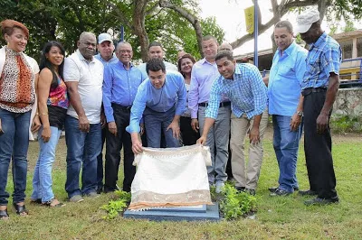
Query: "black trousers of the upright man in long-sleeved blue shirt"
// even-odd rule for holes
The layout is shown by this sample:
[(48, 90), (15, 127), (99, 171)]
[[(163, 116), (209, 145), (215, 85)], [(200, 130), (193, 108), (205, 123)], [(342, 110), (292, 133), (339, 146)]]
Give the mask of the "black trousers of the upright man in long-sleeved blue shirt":
[(120, 151), (123, 146), (124, 180), (123, 190), (130, 191), (132, 180), (136, 174), (136, 167), (132, 165), (134, 154), (132, 152), (132, 142), (130, 134), (126, 131), (129, 125), (129, 109), (112, 104), (113, 116), (117, 125), (117, 135), (107, 131), (106, 134), (106, 164), (104, 191), (114, 191), (118, 180)]

